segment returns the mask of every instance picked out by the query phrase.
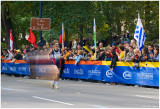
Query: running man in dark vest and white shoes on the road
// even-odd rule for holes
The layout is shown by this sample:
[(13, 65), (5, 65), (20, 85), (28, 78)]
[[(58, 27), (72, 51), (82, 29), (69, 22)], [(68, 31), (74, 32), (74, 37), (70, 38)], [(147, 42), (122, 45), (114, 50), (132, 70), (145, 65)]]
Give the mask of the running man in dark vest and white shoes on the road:
[(63, 52), (59, 48), (59, 42), (57, 40), (55, 40), (53, 44), (54, 44), (54, 47), (49, 52), (49, 58), (52, 60), (52, 63), (54, 64), (53, 66), (54, 77), (53, 77), (53, 81), (51, 82), (51, 86), (52, 86), (52, 89), (54, 89), (54, 87), (58, 89), (59, 88), (58, 80), (59, 80), (59, 73), (61, 68), (61, 59), (63, 58)]

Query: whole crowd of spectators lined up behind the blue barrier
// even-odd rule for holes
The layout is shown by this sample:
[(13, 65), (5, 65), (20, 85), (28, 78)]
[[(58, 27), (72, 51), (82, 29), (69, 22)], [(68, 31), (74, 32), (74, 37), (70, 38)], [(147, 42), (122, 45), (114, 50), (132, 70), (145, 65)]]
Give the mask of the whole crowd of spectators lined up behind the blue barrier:
[[(64, 60), (78, 60), (76, 64), (80, 60), (96, 60), (96, 61), (112, 61), (115, 63), (116, 61), (124, 61), (124, 62), (158, 62), (159, 61), (159, 45), (146, 45), (143, 47), (141, 51), (139, 51), (137, 43), (134, 39), (131, 41), (129, 38), (129, 33), (122, 37), (126, 37), (126, 40), (118, 40), (117, 35), (114, 33), (112, 44), (108, 44), (104, 46), (103, 42), (97, 41), (97, 46), (95, 49), (94, 44), (89, 45), (88, 41), (93, 40), (92, 37), (84, 38), (82, 42), (80, 39), (74, 39), (73, 41), (69, 40), (68, 48), (65, 47), (63, 50)], [(46, 44), (46, 41), (42, 39), (42, 41), (38, 42), (38, 48), (34, 48), (33, 46), (25, 45), (20, 50), (7, 50), (2, 49), (1, 52), (1, 60), (25, 60), (29, 61), (29, 57), (37, 56), (37, 55), (47, 55), (50, 50), (54, 48), (54, 44), (51, 42), (50, 44)], [(95, 51), (96, 50), (96, 51)], [(113, 64), (114, 67), (114, 64)]]

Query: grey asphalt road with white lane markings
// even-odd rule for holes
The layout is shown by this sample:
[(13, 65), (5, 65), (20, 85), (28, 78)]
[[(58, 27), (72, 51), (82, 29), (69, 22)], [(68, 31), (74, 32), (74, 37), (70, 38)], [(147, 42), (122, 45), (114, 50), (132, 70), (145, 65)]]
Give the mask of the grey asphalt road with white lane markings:
[(159, 108), (159, 89), (1, 75), (2, 108)]

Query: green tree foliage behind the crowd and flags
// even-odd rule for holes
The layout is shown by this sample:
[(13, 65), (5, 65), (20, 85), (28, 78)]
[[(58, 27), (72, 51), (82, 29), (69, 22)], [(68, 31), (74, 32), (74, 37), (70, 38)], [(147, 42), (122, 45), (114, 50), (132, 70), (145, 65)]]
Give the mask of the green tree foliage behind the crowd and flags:
[[(2, 1), (4, 2), (4, 1)], [(19, 46), (25, 43), (19, 33), (29, 33), (31, 17), (39, 18), (39, 1), (14, 1), (8, 3), (10, 17)], [(2, 6), (2, 12), (3, 12)], [(93, 19), (96, 19), (97, 39), (111, 37), (112, 32), (118, 34), (129, 30), (133, 38), (138, 13), (147, 40), (159, 38), (159, 1), (42, 1), (42, 17), (51, 18), (51, 30), (43, 31), (47, 41), (59, 39), (62, 22), (68, 31), (68, 39), (80, 35), (88, 37), (88, 28), (93, 31)], [(124, 31), (121, 30), (124, 26)], [(81, 28), (83, 27), (83, 28)], [(34, 31), (38, 39), (39, 31)]]

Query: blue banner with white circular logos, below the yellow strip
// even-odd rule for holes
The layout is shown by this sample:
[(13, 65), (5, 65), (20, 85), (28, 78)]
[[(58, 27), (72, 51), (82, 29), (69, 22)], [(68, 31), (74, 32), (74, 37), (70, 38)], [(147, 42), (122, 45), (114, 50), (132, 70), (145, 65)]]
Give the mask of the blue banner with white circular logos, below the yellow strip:
[(158, 67), (116, 66), (111, 72), (110, 67), (102, 65), (102, 81), (124, 84), (159, 86)]

